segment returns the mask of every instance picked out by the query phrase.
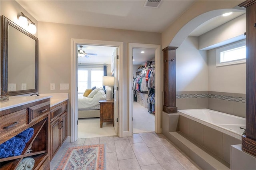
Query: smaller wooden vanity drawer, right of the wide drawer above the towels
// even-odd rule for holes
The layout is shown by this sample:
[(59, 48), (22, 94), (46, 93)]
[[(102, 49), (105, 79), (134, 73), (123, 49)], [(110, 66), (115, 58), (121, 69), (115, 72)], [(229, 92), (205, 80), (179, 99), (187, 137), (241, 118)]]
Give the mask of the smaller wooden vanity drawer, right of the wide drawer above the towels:
[(28, 123), (50, 111), (50, 101), (28, 108)]

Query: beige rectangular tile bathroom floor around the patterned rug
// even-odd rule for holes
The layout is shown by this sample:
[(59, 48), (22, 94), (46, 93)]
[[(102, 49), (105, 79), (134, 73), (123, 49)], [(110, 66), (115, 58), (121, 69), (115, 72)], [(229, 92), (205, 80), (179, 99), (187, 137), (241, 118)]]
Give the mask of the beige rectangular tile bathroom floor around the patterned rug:
[(197, 170), (189, 160), (163, 135), (155, 132), (133, 134), (130, 137), (105, 136), (66, 142), (58, 150), (50, 169), (61, 159), (68, 146), (105, 144), (106, 170)]

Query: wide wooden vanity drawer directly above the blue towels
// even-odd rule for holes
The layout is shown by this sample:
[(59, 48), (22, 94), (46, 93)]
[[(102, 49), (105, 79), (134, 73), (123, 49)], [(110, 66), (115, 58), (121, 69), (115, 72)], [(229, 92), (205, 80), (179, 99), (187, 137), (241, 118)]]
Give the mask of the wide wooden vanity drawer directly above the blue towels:
[[(4, 115), (0, 118), (0, 136), (1, 140), (4, 139), (8, 134), (18, 134), (22, 130), (25, 130), (23, 127), (26, 127), (26, 109)], [(21, 131), (20, 131), (21, 129)], [(14, 135), (15, 136), (15, 135)]]

